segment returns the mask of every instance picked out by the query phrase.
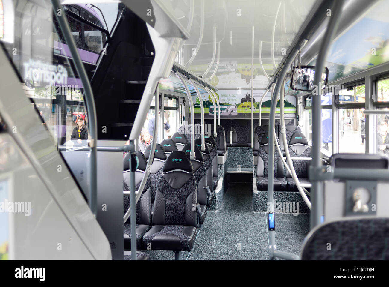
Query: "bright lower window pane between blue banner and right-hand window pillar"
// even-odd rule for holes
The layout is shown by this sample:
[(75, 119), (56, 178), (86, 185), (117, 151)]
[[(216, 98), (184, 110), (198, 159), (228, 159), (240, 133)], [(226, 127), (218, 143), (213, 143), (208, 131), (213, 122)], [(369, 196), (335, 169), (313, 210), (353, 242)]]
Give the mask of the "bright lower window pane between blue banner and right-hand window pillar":
[(339, 109), (339, 152), (365, 153), (366, 119), (360, 109)]

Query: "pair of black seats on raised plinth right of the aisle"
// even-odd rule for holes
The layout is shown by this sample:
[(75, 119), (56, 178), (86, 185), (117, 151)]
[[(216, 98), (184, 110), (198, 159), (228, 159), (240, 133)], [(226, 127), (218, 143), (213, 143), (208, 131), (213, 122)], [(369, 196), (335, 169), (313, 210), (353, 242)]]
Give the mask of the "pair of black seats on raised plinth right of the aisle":
[[(280, 125), (275, 125), (275, 145), (278, 143), (280, 145), (280, 150), (282, 155), (279, 154), (277, 147), (274, 147), (274, 190), (277, 191), (296, 191), (297, 186), (296, 182), (293, 180), (293, 177), (289, 172), (287, 172), (286, 167), (284, 166), (282, 159), (285, 157), (285, 148), (289, 150), (291, 158), (310, 158), (311, 149), (308, 145), (307, 138), (301, 133), (301, 129), (298, 126), (286, 125), (285, 133), (288, 146), (284, 147), (281, 138), (281, 127)], [(258, 126), (255, 129), (255, 136), (253, 147), (253, 156), (257, 158), (257, 174), (256, 174), (256, 185), (257, 190), (267, 190), (268, 189), (268, 160), (269, 160), (269, 130), (268, 126)], [(286, 160), (285, 160), (286, 161)], [(308, 181), (308, 167), (309, 160), (292, 160), (294, 170), (300, 181), (300, 183), (310, 183)]]

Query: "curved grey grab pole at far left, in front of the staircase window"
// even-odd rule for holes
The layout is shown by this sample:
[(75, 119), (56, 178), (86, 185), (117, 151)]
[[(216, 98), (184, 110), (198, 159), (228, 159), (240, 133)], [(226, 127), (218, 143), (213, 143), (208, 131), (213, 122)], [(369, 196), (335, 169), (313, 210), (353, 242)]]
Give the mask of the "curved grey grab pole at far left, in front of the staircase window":
[[(86, 74), (84, 64), (82, 64), (81, 57), (77, 51), (77, 46), (73, 39), (72, 32), (70, 31), (69, 23), (66, 19), (65, 11), (60, 4), (59, 0), (51, 0), (53, 4), (54, 15), (60, 25), (63, 37), (68, 45), (70, 53), (73, 57), (74, 66), (77, 70), (77, 74), (81, 79), (82, 87), (84, 89), (84, 99), (86, 103), (86, 111), (88, 113), (89, 122), (89, 147), (91, 147), (90, 157), (90, 182), (89, 182), (89, 208), (93, 215), (97, 216), (97, 117), (96, 117), (96, 106), (95, 99), (93, 97), (92, 87), (89, 82), (88, 75)], [(61, 11), (61, 13), (60, 13)], [(59, 15), (60, 14), (60, 15)]]

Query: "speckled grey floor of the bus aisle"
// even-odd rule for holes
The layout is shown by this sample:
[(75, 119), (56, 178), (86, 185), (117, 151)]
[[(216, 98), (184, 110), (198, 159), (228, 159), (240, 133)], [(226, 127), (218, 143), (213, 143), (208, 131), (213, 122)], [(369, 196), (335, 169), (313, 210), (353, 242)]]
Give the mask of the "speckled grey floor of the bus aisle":
[[(251, 183), (230, 183), (221, 211), (209, 211), (192, 251), (181, 260), (268, 260), (266, 214), (251, 211)], [(308, 214), (276, 214), (277, 248), (300, 254)], [(171, 251), (146, 251), (151, 260), (174, 260)]]

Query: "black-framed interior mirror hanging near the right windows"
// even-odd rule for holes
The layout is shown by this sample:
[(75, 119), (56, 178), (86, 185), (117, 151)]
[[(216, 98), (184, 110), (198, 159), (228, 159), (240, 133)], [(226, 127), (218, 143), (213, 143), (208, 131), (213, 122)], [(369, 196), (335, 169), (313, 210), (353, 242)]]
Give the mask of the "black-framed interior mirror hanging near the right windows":
[[(315, 80), (315, 66), (296, 66), (293, 67), (291, 78), (291, 89), (303, 92), (310, 92), (313, 90)], [(321, 74), (321, 85), (324, 89), (328, 81), (328, 68), (324, 67)]]

